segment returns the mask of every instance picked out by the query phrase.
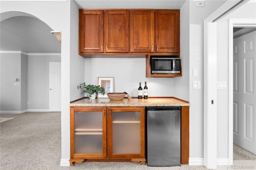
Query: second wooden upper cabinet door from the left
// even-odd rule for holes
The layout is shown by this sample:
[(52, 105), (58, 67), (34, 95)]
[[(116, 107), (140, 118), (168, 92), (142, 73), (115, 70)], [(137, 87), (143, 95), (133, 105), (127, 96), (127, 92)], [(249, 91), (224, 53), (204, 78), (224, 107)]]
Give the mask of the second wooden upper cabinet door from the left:
[(105, 51), (129, 52), (129, 11), (105, 11)]

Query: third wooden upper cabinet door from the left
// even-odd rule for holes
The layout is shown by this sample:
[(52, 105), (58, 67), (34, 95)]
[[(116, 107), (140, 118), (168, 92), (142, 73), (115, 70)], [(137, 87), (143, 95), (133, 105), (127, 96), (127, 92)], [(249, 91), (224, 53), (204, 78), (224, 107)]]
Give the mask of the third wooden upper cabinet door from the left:
[(154, 52), (154, 11), (132, 10), (130, 12), (131, 52)]

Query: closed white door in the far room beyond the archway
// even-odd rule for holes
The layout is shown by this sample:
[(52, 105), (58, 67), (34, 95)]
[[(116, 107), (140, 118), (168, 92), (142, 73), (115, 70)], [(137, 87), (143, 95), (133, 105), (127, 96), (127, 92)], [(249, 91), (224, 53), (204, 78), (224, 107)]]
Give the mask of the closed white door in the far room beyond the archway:
[(61, 111), (61, 63), (49, 62), (49, 111)]

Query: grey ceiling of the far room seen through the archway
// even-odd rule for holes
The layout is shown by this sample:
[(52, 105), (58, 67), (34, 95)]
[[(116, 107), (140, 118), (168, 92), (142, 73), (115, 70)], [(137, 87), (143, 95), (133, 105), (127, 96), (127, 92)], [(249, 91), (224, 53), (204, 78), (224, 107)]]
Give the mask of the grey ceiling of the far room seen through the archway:
[(61, 45), (47, 24), (28, 16), (15, 16), (0, 23), (0, 51), (60, 53)]

